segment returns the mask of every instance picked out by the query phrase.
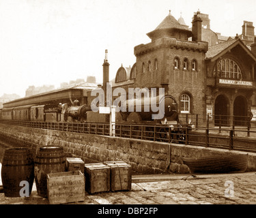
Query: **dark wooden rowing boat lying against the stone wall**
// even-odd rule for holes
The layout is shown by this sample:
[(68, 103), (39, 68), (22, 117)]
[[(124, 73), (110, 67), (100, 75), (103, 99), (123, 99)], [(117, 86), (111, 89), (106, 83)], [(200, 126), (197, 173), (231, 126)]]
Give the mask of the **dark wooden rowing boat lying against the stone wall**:
[(248, 166), (248, 155), (213, 155), (208, 157), (183, 157), (191, 173), (244, 172)]

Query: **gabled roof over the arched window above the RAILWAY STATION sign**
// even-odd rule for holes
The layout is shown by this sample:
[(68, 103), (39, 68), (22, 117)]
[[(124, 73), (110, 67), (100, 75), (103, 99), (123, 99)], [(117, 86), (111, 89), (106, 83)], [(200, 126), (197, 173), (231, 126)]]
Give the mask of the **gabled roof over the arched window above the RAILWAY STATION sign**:
[(246, 45), (242, 42), (242, 40), (230, 40), (227, 42), (223, 42), (220, 44), (216, 44), (214, 46), (208, 47), (208, 52), (205, 54), (205, 59), (211, 59), (211, 61), (216, 61), (219, 57), (223, 56), (225, 53), (227, 53), (232, 48), (240, 45), (242, 48), (244, 48), (244, 51), (254, 60), (256, 61), (255, 55), (249, 50)]

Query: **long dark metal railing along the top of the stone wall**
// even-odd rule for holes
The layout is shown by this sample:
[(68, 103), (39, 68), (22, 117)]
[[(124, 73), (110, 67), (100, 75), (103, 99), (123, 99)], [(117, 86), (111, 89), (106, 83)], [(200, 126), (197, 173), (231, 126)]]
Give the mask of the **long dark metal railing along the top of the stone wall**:
[[(247, 122), (246, 116), (223, 116), (215, 120), (199, 115), (190, 116), (184, 114), (181, 117), (182, 125), (172, 129), (168, 125), (115, 125), (115, 135), (122, 138), (136, 138), (139, 140), (151, 140), (158, 142), (173, 142), (205, 147), (215, 147), (229, 150), (240, 150), (256, 153), (256, 127), (253, 122)], [(201, 118), (201, 119), (200, 119)], [(248, 119), (247, 119), (248, 120)], [(228, 122), (226, 122), (228, 121)], [(235, 125), (234, 121), (243, 125)], [(195, 128), (191, 129), (193, 123)], [(214, 125), (218, 123), (218, 126)], [(0, 121), (10, 125), (20, 125), (40, 129), (53, 129), (59, 131), (71, 131), (80, 134), (96, 134), (109, 136), (110, 125), (108, 123), (58, 123), (35, 121)], [(230, 123), (232, 125), (230, 125)]]

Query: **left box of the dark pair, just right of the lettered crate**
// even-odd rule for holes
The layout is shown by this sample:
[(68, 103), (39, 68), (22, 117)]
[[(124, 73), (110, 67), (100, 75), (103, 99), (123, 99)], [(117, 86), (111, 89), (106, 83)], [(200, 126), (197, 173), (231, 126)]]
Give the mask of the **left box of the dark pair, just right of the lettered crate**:
[(103, 163), (86, 163), (85, 190), (88, 193), (110, 191), (110, 167)]

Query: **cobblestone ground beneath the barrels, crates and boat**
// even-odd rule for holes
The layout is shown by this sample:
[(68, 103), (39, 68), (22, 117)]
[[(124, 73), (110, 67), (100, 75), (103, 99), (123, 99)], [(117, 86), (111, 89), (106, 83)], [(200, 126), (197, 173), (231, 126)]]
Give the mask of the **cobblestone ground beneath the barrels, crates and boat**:
[[(49, 204), (37, 195), (7, 198), (0, 204)], [(256, 173), (200, 175), (136, 175), (131, 191), (86, 193), (83, 202), (72, 204), (256, 204)]]

